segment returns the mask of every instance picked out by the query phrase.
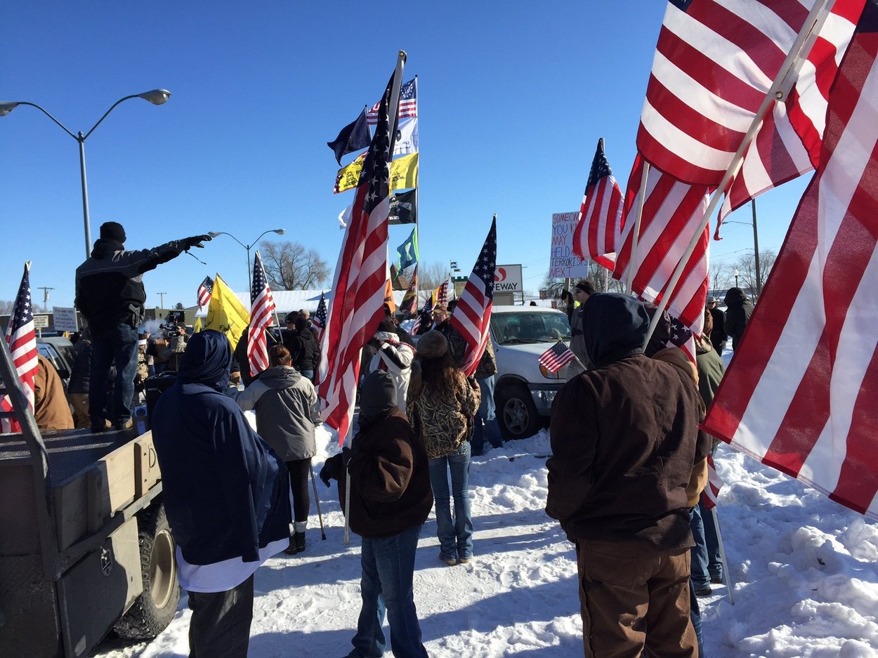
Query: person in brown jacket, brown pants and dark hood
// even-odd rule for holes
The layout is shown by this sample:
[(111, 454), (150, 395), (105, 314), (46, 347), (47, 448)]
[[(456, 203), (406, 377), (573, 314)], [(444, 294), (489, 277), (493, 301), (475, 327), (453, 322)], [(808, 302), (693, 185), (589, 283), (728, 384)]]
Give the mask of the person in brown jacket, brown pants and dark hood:
[(703, 403), (690, 375), (644, 354), (644, 304), (583, 306), (594, 369), (552, 404), (546, 512), (576, 545), (586, 655), (694, 658), (686, 488), (709, 450)]

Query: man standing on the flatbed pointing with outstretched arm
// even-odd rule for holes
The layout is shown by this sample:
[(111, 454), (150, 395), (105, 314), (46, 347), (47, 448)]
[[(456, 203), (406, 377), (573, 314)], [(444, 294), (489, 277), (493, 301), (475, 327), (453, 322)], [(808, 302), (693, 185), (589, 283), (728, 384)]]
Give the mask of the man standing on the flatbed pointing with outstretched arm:
[[(143, 321), (147, 292), (143, 273), (170, 261), (190, 247), (202, 247), (209, 235), (173, 240), (153, 249), (126, 251), (125, 229), (104, 222), (90, 257), (76, 268), (76, 307), (91, 332), (92, 360), (89, 418), (92, 432), (104, 432), (105, 420), (120, 430), (130, 426), (134, 375), (137, 372), (137, 327)], [(104, 382), (113, 360), (116, 384), (108, 406)]]

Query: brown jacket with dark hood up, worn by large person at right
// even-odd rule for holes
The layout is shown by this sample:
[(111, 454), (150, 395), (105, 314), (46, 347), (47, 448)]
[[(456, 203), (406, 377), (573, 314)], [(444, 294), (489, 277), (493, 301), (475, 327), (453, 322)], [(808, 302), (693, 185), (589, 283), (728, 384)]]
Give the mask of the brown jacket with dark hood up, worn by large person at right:
[(698, 391), (681, 368), (645, 356), (643, 304), (596, 293), (584, 305), (594, 369), (566, 383), (552, 404), (546, 512), (571, 540), (691, 547), (686, 489)]

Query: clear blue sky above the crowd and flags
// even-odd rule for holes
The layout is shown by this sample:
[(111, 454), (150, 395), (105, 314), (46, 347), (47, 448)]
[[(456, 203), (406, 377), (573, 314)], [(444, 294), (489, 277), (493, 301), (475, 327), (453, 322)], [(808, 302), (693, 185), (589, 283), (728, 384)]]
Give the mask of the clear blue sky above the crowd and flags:
[[(208, 231), (261, 232), (318, 250), (335, 267), (337, 215), (326, 142), (378, 100), (407, 51), (419, 78), (421, 261), (472, 266), (498, 217), (498, 261), (536, 291), (551, 214), (579, 208), (597, 139), (623, 189), (665, 4), (11, 3), (0, 21), (0, 100), (40, 104), (87, 132), (91, 229), (126, 227), (128, 248)], [(0, 299), (32, 261), (37, 304), (70, 306), (85, 254), (76, 140), (32, 107), (0, 118)], [(345, 160), (350, 159), (351, 156)], [(759, 246), (780, 248), (806, 177), (759, 199)], [(750, 221), (749, 207), (730, 219)], [(392, 226), (393, 249), (409, 232)], [(752, 250), (729, 225), (714, 259)], [(148, 306), (195, 304), (220, 273), (247, 289), (246, 252), (227, 236), (146, 275)]]

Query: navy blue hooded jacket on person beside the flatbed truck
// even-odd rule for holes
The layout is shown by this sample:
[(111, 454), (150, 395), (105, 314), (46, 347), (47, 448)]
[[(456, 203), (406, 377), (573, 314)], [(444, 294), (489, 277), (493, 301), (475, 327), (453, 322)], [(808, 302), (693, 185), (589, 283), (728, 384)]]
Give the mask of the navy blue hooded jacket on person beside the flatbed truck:
[(290, 535), (287, 468), (221, 392), (231, 366), (225, 335), (196, 333), (152, 418), (171, 534), (190, 564), (257, 561)]

